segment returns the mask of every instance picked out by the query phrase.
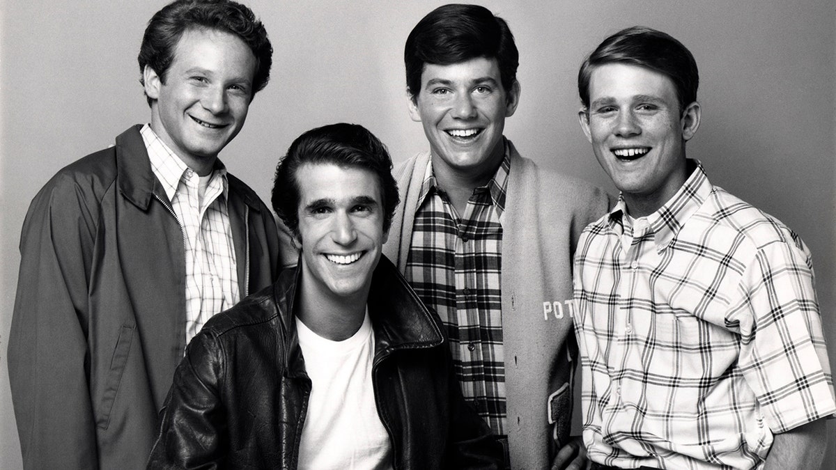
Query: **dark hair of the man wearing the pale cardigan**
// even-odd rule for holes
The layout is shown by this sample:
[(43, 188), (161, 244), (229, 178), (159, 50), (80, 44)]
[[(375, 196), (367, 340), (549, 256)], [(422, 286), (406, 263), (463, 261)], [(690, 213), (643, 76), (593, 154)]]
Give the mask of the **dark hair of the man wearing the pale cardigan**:
[(421, 93), (426, 64), (458, 64), (480, 57), (497, 59), (502, 87), (512, 89), (519, 53), (505, 20), (479, 5), (451, 3), (436, 8), (406, 38), (406, 91), (412, 100)]

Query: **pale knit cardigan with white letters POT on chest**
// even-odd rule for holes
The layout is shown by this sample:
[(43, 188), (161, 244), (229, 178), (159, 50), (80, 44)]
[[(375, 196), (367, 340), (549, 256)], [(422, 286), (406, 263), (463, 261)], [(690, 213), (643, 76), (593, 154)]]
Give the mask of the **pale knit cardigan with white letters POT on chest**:
[[(607, 212), (606, 193), (538, 168), (509, 142), (502, 214), (502, 337), (512, 468), (547, 468), (568, 438), (578, 346), (572, 328), (572, 257), (587, 224)], [(395, 168), (400, 205), (384, 253), (405, 272), (430, 152)]]

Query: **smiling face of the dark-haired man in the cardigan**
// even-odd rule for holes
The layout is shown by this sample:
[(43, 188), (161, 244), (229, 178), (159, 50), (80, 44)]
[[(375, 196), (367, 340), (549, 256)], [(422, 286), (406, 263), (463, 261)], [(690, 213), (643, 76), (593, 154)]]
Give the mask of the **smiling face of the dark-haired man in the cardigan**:
[[(436, 171), (493, 175), (502, 161), (505, 118), (514, 114), (519, 84), (502, 88), (496, 59), (426, 64), (410, 116), (430, 141)], [(490, 177), (490, 176), (488, 176)]]

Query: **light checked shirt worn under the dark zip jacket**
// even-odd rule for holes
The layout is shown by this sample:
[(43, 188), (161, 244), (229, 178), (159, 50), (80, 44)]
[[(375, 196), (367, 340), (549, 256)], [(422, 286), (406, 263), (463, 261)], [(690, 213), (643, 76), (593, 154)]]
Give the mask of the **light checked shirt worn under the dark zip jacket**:
[(183, 231), (186, 256), (186, 344), (212, 315), (236, 304), (238, 274), (227, 211), (227, 169), (220, 161), (202, 198), (200, 176), (144, 125), (151, 170), (162, 183)]

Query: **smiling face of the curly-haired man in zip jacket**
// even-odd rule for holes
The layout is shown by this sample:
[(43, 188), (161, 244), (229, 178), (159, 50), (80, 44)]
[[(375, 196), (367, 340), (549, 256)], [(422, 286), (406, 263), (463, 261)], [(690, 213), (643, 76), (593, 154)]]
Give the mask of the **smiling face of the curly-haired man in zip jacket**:
[(186, 30), (165, 80), (145, 67), (145, 94), (154, 100), (151, 129), (192, 170), (208, 174), (247, 119), (255, 69), (255, 55), (241, 38)]

